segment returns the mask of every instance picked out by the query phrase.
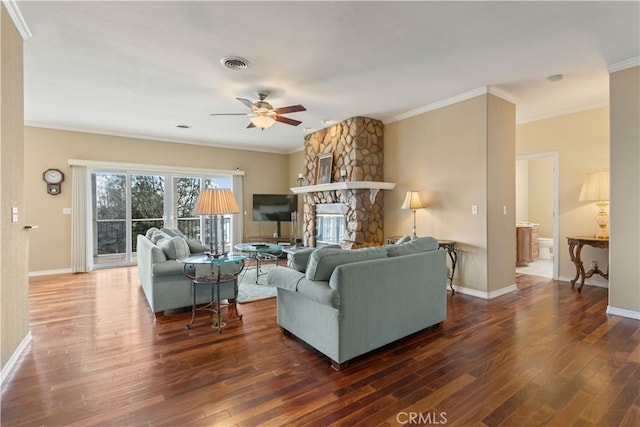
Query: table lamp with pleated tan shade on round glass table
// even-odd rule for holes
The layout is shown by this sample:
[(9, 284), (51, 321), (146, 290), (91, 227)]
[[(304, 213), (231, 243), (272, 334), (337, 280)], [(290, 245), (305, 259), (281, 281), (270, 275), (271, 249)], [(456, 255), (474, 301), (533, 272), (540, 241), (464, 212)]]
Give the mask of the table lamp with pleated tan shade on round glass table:
[(233, 197), (233, 192), (228, 188), (205, 188), (198, 195), (194, 213), (196, 215), (209, 215), (209, 244), (211, 245), (211, 256), (220, 257), (224, 255), (225, 238), (224, 222), (221, 227), (222, 251), (218, 252), (218, 215), (239, 213), (240, 208)]

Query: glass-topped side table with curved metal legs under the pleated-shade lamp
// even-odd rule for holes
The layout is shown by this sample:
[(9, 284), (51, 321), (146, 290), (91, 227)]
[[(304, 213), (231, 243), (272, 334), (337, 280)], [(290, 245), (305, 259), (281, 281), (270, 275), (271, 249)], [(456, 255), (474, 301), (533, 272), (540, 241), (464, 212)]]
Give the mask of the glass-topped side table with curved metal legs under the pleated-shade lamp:
[[(184, 264), (183, 271), (185, 276), (191, 279), (193, 303), (191, 306), (191, 321), (187, 323), (187, 329), (191, 329), (193, 322), (196, 319), (196, 310), (205, 310), (210, 313), (210, 317), (213, 317), (215, 313), (217, 315), (217, 322), (211, 322), (214, 327), (218, 328), (218, 333), (222, 333), (222, 327), (225, 326), (220, 320), (220, 310), (222, 305), (220, 304), (220, 285), (223, 283), (233, 282), (234, 296), (238, 295), (238, 274), (244, 268), (244, 260), (246, 255), (242, 254), (227, 254), (219, 258), (214, 258), (210, 255), (194, 255), (188, 258), (178, 260)], [(197, 265), (208, 265), (210, 267), (208, 274), (198, 274)], [(225, 271), (222, 271), (221, 267), (226, 266)], [(196, 290), (198, 286), (210, 286), (211, 287), (211, 302), (205, 304), (202, 307), (196, 307)], [(238, 314), (238, 308), (236, 306), (236, 298), (229, 300), (229, 307), (235, 314), (236, 318), (242, 320), (242, 315)]]

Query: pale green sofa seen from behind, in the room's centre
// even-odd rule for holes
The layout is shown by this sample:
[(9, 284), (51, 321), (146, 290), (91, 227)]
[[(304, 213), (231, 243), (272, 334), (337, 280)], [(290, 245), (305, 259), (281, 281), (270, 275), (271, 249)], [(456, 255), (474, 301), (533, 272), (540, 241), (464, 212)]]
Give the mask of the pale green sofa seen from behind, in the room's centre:
[(267, 280), (278, 287), (278, 325), (328, 356), (336, 370), (446, 318), (445, 251), (432, 237), (302, 252)]

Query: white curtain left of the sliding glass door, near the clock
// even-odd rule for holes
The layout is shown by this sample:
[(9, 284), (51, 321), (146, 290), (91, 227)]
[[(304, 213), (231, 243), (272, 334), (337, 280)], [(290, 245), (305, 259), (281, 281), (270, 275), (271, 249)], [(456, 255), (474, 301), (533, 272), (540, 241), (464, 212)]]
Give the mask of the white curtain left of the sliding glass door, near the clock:
[(83, 273), (93, 269), (91, 262), (88, 221), (87, 186), (89, 176), (86, 166), (71, 166), (71, 271)]

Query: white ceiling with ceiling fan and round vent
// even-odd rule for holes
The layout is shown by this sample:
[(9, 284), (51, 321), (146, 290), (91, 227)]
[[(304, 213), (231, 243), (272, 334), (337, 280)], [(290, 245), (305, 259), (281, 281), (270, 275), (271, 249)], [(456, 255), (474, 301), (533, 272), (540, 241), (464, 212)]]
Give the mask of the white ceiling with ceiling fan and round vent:
[[(607, 105), (607, 66), (640, 56), (637, 1), (17, 6), (32, 35), (27, 124), (274, 152), (301, 149), (323, 120), (390, 123), (486, 87), (509, 94), (519, 121)], [(224, 68), (232, 55), (251, 66)], [(288, 115), (303, 124), (210, 116), (248, 111), (235, 98), (262, 89), (274, 107), (303, 104)]]

